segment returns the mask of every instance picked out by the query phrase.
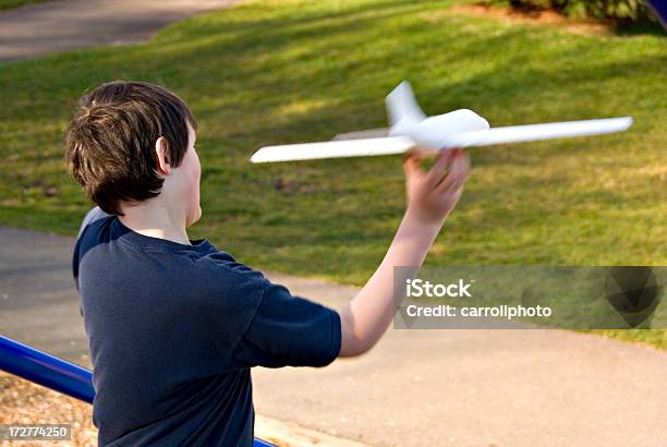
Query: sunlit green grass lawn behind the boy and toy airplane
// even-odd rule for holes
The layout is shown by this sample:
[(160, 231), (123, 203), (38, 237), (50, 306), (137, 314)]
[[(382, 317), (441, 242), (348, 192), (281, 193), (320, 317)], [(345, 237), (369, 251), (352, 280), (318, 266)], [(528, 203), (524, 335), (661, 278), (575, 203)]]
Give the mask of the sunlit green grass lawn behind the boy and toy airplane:
[[(460, 1), (459, 1), (460, 2)], [(456, 15), (457, 1), (252, 1), (145, 45), (0, 65), (0, 222), (73, 234), (90, 206), (62, 162), (75, 99), (158, 82), (199, 123), (192, 237), (258, 268), (363, 283), (404, 209), (400, 157), (253, 166), (262, 145), (385, 125), (408, 78), (427, 113), (492, 125), (631, 114), (629, 132), (471, 152), (430, 265), (667, 265), (667, 46)], [(667, 333), (618, 337), (667, 347)]]

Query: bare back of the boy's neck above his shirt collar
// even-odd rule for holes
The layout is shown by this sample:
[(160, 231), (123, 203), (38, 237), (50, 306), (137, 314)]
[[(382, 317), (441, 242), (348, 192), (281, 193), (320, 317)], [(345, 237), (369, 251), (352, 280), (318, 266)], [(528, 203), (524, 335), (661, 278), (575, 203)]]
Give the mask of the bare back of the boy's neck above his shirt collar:
[(122, 210), (124, 216), (118, 218), (131, 230), (151, 238), (191, 245), (184, 219), (170, 214), (168, 209), (142, 204), (122, 206)]

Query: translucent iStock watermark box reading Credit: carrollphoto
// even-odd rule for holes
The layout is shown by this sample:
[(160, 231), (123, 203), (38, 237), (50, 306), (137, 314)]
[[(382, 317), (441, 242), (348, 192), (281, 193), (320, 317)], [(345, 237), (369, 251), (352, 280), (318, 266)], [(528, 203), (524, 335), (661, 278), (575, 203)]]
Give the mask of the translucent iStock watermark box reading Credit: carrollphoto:
[(395, 268), (397, 329), (667, 328), (667, 267)]

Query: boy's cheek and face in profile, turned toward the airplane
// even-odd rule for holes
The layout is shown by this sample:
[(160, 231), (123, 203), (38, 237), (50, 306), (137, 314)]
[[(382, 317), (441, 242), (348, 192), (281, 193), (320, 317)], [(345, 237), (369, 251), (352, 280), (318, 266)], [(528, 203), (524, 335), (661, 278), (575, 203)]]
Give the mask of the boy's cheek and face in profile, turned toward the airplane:
[(187, 123), (187, 150), (178, 168), (172, 169), (169, 177), (175, 183), (174, 190), (178, 191), (179, 203), (185, 206), (185, 226), (190, 227), (202, 217), (199, 206), (199, 179), (202, 177), (202, 166), (195, 149), (197, 135), (194, 129)]

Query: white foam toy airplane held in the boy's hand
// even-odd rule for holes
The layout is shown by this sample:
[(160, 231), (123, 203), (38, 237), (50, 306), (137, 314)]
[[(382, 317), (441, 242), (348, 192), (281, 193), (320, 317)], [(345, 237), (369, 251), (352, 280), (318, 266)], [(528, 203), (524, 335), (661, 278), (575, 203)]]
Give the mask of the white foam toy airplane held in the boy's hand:
[(632, 125), (631, 117), (490, 129), (488, 121), (468, 109), (426, 117), (417, 105), (410, 83), (403, 81), (386, 98), (389, 130), (375, 129), (336, 135), (323, 143), (266, 146), (252, 162), (310, 160), (316, 158), (364, 157), (425, 150), (489, 146), (538, 140), (621, 132)]

